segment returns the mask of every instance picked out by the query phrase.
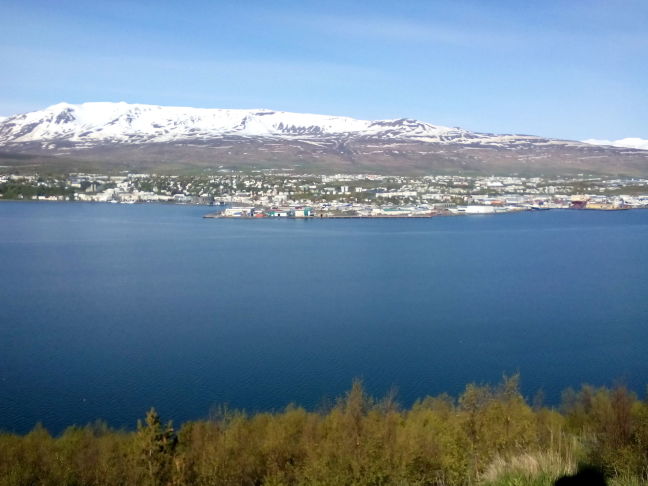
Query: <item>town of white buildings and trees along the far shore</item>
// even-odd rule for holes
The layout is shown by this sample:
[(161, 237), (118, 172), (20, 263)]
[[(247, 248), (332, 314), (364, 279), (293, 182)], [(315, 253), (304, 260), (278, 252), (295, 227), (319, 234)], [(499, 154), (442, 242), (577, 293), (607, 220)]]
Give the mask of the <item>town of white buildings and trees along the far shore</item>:
[(0, 175), (0, 199), (219, 206), (219, 217), (426, 217), (648, 207), (648, 179), (232, 171), (182, 176)]

